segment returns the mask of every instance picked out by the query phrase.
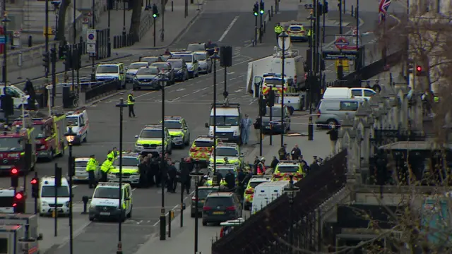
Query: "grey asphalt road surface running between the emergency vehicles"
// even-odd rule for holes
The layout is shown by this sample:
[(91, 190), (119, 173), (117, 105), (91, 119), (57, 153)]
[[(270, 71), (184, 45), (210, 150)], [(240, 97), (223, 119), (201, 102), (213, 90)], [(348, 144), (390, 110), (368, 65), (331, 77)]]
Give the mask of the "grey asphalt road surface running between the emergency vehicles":
[[(252, 6), (252, 4), (249, 4), (249, 6)], [(233, 66), (227, 68), (226, 80), (227, 91), (230, 93), (230, 102), (240, 103), (242, 112), (249, 114), (252, 119), (255, 119), (258, 111), (257, 102), (245, 92), (247, 63), (253, 59), (268, 56), (273, 52), (273, 47), (275, 46), (274, 23), (295, 20), (297, 11), (285, 11), (285, 8), (282, 8), (283, 11), (280, 11), (268, 23), (268, 31), (263, 36), (263, 43), (258, 44), (256, 47), (250, 47), (249, 42), (254, 32), (254, 17), (251, 16), (248, 8), (238, 10), (231, 7), (230, 9), (224, 8), (222, 11), (219, 8), (217, 5), (208, 3), (204, 12), (172, 48), (186, 47), (186, 44), (191, 42), (218, 41), (220, 38), (222, 38), (221, 44), (231, 45), (234, 48), (234, 59)], [(299, 44), (294, 47), (299, 49), (304, 55), (307, 44)], [(149, 54), (153, 53), (155, 54), (156, 52), (150, 52)], [(134, 56), (121, 61), (128, 64), (137, 59), (138, 55), (134, 54)], [(208, 120), (210, 103), (213, 102), (213, 78), (213, 73), (201, 75), (200, 78), (177, 83), (165, 89), (165, 115), (183, 116), (189, 124), (191, 140), (194, 140), (197, 135), (206, 134), (204, 123)], [(217, 78), (216, 93), (218, 101), (222, 101), (225, 78), (224, 69), (219, 66)], [(119, 109), (115, 107), (115, 104), (119, 102), (119, 98), (125, 96), (117, 95), (88, 108), (88, 116), (90, 118), (88, 143), (73, 147), (74, 156), (95, 155), (102, 162), (106, 157), (107, 150), (112, 149), (112, 147), (119, 147)], [(162, 117), (160, 91), (136, 91), (135, 97), (136, 115), (138, 117), (129, 119), (126, 116), (124, 119), (124, 150), (133, 149), (134, 135), (138, 134), (145, 124), (158, 123)], [(294, 129), (294, 131), (299, 132), (305, 132), (305, 130), (305, 126)], [(244, 147), (245, 151), (252, 149), (254, 147)], [(188, 148), (174, 150), (172, 158), (177, 160), (187, 154)], [(66, 152), (63, 158), (55, 159), (54, 162), (38, 164), (37, 172), (40, 176), (53, 175), (54, 163), (56, 162), (59, 167), (64, 169), (64, 174), (66, 174), (67, 160)], [(8, 178), (0, 179), (0, 186), (9, 185), (10, 181)], [(75, 195), (74, 199), (78, 202), (75, 205), (76, 211), (80, 212), (81, 198), (84, 195), (91, 196), (93, 190), (81, 183), (77, 184), (73, 193)], [(134, 253), (150, 236), (154, 236), (158, 232), (160, 196), (160, 189), (157, 188), (138, 188), (133, 190), (133, 218), (124, 223), (122, 231), (124, 253)], [(173, 209), (179, 205), (179, 202), (180, 193), (165, 193), (166, 210)], [(32, 212), (32, 203), (33, 200), (29, 198), (27, 202), (28, 212)], [(188, 204), (188, 202), (186, 203)], [(85, 218), (85, 221), (88, 222), (88, 218)], [(46, 224), (45, 226), (49, 225)], [(114, 253), (116, 244), (113, 244), (112, 241), (117, 238), (117, 230), (117, 224), (108, 222), (93, 222), (84, 229), (78, 229), (78, 235), (74, 238), (75, 253), (86, 253), (87, 250), (89, 250), (89, 253), (97, 254)], [(67, 248), (67, 245), (63, 245), (61, 248), (52, 248), (52, 252), (49, 253), (68, 253)]]

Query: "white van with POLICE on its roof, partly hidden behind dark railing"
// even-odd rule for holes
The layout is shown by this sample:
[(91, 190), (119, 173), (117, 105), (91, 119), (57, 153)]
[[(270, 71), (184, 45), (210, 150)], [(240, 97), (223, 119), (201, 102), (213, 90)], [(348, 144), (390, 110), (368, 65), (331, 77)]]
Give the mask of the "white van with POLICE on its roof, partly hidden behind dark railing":
[(289, 181), (273, 181), (261, 183), (254, 189), (253, 205), (251, 214), (266, 207), (270, 202), (284, 194), (284, 188), (289, 186)]

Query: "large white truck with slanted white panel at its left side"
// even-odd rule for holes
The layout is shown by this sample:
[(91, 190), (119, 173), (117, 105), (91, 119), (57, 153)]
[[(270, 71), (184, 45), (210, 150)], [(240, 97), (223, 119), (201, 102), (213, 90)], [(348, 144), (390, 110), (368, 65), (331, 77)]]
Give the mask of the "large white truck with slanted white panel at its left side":
[[(263, 59), (258, 59), (248, 63), (248, 72), (246, 74), (246, 92), (258, 97), (258, 90), (261, 88), (263, 75), (265, 73), (278, 73), (281, 77), (283, 52), (275, 47), (275, 53)], [(304, 88), (306, 80), (305, 61), (299, 56), (297, 50), (287, 49), (285, 52), (285, 79), (293, 80), (293, 86), (296, 90)]]

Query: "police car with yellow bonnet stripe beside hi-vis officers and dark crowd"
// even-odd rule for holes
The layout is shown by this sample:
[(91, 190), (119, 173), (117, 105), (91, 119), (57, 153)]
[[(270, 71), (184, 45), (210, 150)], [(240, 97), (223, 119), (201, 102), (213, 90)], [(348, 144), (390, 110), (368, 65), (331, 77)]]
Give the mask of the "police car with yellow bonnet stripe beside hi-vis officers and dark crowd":
[[(139, 154), (136, 152), (123, 152), (122, 153), (122, 181), (138, 184), (140, 183), (140, 171), (138, 170), (138, 164), (140, 163)], [(119, 159), (115, 159), (113, 162), (114, 169), (110, 169), (107, 174), (109, 182), (118, 182), (119, 176)]]

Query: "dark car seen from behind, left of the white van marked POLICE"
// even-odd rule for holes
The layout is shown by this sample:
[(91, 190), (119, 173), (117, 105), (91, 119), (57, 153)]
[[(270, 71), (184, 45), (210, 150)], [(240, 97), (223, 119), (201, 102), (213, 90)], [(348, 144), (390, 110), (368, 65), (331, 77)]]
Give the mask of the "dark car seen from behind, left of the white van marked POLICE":
[(203, 226), (242, 217), (242, 204), (232, 192), (210, 193), (203, 205)]

